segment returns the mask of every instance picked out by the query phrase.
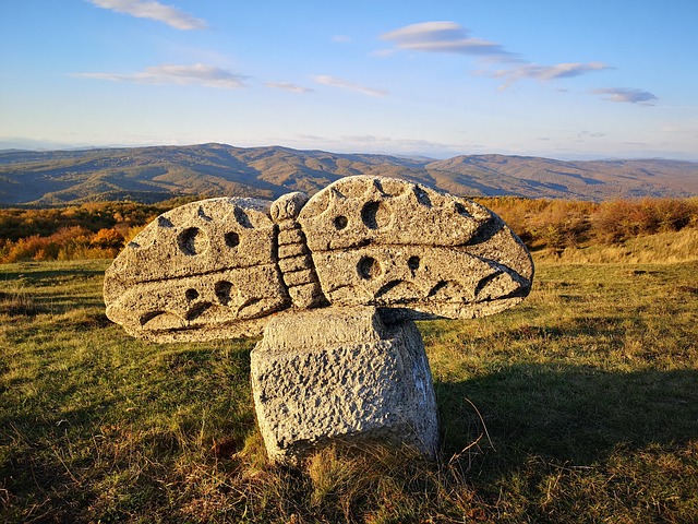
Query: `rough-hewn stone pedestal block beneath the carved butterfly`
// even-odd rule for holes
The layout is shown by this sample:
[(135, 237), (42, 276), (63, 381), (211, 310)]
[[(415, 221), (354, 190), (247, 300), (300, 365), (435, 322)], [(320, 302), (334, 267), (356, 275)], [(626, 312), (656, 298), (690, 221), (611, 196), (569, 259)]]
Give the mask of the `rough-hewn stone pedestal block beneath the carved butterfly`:
[(251, 354), (257, 424), (273, 461), (318, 444), (406, 443), (433, 456), (436, 402), (421, 336), (374, 308), (275, 317)]

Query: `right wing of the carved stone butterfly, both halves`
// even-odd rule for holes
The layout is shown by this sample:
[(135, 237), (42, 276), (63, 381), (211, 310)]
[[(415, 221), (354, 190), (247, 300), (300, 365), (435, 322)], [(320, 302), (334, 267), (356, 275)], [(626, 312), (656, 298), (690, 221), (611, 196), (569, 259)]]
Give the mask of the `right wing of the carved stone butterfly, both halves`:
[(530, 255), (500, 217), (420, 184), (340, 179), (310, 199), (299, 223), (333, 305), (375, 306), (394, 318), (472, 318), (530, 290)]

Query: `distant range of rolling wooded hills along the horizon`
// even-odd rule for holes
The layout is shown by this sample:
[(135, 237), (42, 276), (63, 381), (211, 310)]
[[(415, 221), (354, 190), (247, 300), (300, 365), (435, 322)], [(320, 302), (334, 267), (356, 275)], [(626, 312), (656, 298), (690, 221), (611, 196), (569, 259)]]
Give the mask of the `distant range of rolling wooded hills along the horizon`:
[(698, 195), (698, 163), (640, 159), (562, 162), (505, 155), (446, 160), (224, 144), (0, 151), (0, 203), (158, 202), (173, 196), (314, 193), (350, 175), (409, 179), (465, 196), (607, 200)]

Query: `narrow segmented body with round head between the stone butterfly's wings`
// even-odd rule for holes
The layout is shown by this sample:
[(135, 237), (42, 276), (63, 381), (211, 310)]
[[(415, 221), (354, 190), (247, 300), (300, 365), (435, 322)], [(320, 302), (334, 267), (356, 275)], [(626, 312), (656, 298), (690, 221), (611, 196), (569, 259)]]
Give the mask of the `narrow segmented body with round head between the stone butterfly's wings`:
[(300, 309), (326, 306), (308, 249), (305, 234), (297, 222), (308, 195), (299, 191), (280, 196), (272, 204), (272, 219), (278, 226), (278, 255), (281, 278), (288, 288), (293, 306)]

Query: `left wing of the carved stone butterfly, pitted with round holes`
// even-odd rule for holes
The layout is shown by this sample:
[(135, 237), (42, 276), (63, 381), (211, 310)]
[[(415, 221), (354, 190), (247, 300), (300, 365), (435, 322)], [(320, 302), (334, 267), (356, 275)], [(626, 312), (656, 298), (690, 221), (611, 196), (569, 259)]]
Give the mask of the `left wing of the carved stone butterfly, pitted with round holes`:
[(256, 335), (291, 299), (270, 202), (210, 199), (160, 215), (105, 275), (107, 317), (156, 342)]

